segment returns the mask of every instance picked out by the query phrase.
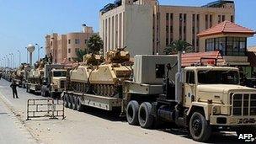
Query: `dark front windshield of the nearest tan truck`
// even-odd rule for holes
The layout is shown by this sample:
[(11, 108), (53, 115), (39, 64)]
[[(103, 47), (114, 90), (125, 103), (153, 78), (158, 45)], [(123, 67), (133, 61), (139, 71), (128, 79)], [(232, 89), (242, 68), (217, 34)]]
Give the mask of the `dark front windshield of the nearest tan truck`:
[(239, 84), (239, 74), (236, 71), (199, 71), (198, 83)]

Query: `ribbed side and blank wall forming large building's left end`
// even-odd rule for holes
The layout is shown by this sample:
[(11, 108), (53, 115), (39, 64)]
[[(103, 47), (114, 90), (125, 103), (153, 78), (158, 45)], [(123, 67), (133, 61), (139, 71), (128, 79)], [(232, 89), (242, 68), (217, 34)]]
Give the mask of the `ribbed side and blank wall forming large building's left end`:
[(100, 15), (99, 35), (104, 40), (104, 55), (109, 50), (127, 47), (131, 56), (152, 54), (152, 7), (122, 5)]

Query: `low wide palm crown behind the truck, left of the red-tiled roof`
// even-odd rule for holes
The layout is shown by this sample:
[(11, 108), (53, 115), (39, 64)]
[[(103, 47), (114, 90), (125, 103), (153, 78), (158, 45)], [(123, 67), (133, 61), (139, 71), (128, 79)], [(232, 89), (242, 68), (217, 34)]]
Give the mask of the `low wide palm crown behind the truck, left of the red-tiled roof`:
[(167, 55), (178, 54), (179, 51), (193, 52), (192, 45), (190, 45), (188, 42), (184, 40), (175, 40), (170, 45), (168, 45), (164, 50), (164, 52)]

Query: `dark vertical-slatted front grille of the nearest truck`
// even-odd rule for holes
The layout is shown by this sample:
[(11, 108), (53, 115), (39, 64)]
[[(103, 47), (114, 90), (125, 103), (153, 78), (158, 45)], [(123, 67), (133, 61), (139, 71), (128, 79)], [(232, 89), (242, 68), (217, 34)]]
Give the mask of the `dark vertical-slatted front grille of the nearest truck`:
[(256, 93), (231, 93), (232, 115), (256, 115)]

